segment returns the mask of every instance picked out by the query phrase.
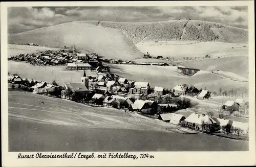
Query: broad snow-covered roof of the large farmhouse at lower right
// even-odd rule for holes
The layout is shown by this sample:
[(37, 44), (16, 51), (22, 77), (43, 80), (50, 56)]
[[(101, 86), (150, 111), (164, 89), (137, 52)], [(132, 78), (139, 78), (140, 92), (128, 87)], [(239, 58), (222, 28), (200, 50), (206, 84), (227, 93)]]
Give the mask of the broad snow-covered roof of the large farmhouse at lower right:
[(198, 113), (191, 113), (185, 120), (186, 122), (189, 123), (195, 123), (195, 124), (199, 124), (202, 125), (204, 124), (216, 124), (216, 121), (212, 120), (212, 118), (210, 118), (208, 115), (201, 115)]

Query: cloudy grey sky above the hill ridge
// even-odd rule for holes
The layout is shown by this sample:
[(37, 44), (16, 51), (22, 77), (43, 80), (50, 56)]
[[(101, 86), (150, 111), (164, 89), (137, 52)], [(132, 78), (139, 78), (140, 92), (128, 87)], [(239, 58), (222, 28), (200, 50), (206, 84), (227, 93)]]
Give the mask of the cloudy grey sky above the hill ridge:
[(9, 7), (8, 33), (80, 20), (148, 22), (190, 18), (248, 29), (247, 6)]

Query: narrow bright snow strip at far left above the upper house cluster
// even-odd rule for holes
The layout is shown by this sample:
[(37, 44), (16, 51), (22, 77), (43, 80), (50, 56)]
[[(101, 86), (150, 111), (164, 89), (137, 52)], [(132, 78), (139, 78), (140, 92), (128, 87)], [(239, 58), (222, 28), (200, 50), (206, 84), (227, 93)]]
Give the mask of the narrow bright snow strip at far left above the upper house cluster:
[(8, 44), (8, 57), (16, 56), (19, 54), (32, 54), (36, 52), (46, 51), (46, 50), (58, 50), (53, 47), (44, 46), (29, 46), (29, 45), (18, 45), (18, 44)]

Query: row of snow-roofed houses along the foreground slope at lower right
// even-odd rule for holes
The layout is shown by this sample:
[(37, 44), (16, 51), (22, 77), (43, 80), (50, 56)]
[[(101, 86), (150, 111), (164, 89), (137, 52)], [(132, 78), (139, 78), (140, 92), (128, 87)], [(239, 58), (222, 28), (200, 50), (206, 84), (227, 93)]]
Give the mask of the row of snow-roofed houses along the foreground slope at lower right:
[(167, 123), (185, 126), (191, 129), (208, 132), (223, 132), (248, 135), (248, 123), (209, 117), (205, 114), (191, 113), (187, 118), (182, 114), (160, 114), (158, 119)]

